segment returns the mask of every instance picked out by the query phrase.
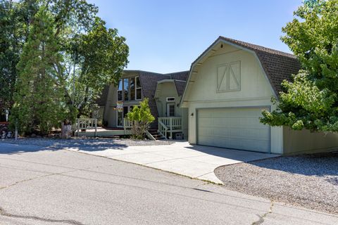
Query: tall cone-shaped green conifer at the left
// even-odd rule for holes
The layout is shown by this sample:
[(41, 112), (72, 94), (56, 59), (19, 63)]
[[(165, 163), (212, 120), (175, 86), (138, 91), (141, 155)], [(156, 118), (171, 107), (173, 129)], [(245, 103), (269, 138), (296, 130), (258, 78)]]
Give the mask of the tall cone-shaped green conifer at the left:
[(15, 104), (11, 122), (22, 133), (47, 134), (64, 117), (64, 96), (55, 77), (54, 65), (62, 56), (55, 37), (53, 19), (41, 7), (30, 25), (30, 35), (18, 63)]

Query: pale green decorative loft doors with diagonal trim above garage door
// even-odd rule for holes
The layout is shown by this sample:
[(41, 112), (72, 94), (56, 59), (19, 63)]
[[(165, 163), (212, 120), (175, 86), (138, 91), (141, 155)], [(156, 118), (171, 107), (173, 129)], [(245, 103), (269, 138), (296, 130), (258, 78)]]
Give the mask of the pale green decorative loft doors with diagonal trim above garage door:
[(217, 68), (218, 92), (241, 90), (241, 62), (226, 63)]

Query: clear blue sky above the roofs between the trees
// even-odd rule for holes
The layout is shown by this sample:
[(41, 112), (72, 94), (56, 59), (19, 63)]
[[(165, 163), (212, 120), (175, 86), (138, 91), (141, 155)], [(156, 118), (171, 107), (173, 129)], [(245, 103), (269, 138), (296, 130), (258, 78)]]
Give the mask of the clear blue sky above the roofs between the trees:
[(218, 38), (290, 52), (281, 28), (301, 0), (88, 0), (130, 47), (128, 70), (177, 72)]

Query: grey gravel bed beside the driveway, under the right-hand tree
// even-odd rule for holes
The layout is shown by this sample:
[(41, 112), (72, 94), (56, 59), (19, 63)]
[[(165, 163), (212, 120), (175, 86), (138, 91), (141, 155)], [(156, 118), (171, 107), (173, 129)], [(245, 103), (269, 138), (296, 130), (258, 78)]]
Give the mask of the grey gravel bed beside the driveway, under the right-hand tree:
[(270, 158), (215, 169), (225, 188), (338, 214), (338, 153)]

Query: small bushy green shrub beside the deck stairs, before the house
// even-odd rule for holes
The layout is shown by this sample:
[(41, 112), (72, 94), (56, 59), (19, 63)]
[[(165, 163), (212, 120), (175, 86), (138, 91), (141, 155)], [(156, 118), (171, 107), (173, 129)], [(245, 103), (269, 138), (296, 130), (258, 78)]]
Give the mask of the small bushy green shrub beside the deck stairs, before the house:
[(132, 134), (134, 139), (144, 139), (145, 132), (148, 130), (155, 117), (151, 115), (148, 98), (144, 98), (139, 103), (139, 107), (134, 106), (132, 111), (127, 114), (128, 120), (132, 121)]

